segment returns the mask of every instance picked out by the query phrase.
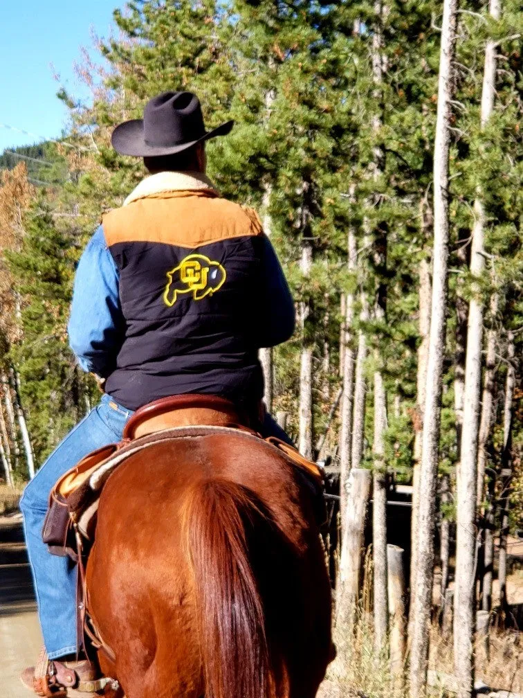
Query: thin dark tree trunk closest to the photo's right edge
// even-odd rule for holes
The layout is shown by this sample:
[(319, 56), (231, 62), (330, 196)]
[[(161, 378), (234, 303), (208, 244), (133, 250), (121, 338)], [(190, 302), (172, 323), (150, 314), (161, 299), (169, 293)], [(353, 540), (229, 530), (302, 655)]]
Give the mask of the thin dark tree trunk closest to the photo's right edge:
[(508, 609), (507, 600), (507, 537), (508, 537), (508, 507), (509, 488), (512, 479), (512, 403), (515, 387), (514, 368), (514, 334), (508, 332), (508, 367), (505, 383), (505, 405), (503, 408), (503, 470), (500, 508), (501, 508), (501, 528), (499, 531), (499, 605), (503, 611)]

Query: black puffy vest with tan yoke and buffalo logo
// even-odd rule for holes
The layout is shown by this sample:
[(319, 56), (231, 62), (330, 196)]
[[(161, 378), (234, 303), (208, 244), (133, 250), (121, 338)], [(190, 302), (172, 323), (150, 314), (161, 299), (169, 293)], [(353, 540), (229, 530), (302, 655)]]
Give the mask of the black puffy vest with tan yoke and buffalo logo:
[(261, 399), (255, 211), (210, 188), (167, 191), (106, 214), (103, 230), (126, 320), (106, 392), (130, 410), (183, 393)]

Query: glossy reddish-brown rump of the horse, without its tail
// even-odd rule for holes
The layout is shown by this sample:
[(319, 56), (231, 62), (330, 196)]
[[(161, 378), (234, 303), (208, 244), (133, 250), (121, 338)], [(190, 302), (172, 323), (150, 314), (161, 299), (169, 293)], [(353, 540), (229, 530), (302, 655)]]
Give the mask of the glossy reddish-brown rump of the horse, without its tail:
[[(287, 674), (309, 665), (302, 672), (307, 680), (318, 662), (312, 655), (330, 650), (328, 579), (310, 495), (294, 466), (243, 435), (160, 442), (109, 478), (88, 568), (93, 616), (116, 654), (116, 674), (128, 698), (134, 698), (135, 686), (135, 695), (146, 697), (148, 686), (158, 695), (167, 684), (161, 695), (204, 695), (197, 597), (206, 574), (195, 570), (195, 550), (189, 548), (197, 547), (196, 527), (205, 527), (196, 521), (202, 505), (195, 501), (215, 496), (222, 509), (224, 491), (239, 509), (250, 507), (240, 526), (248, 536), (271, 652), (277, 644)], [(209, 546), (218, 546), (211, 543), (219, 540), (212, 521), (206, 528)]]

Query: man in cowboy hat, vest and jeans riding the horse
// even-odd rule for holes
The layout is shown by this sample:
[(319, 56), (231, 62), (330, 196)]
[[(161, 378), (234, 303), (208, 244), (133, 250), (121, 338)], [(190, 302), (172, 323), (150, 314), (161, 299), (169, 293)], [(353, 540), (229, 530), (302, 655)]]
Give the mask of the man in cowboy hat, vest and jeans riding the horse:
[[(134, 410), (172, 395), (225, 397), (263, 436), (288, 439), (259, 409), (257, 352), (294, 332), (289, 288), (255, 211), (220, 197), (205, 174), (205, 141), (232, 126), (206, 131), (195, 94), (164, 92), (147, 103), (144, 119), (112, 134), (114, 149), (144, 158), (150, 176), (103, 217), (77, 267), (70, 345), (105, 394), (45, 461), (20, 504), (45, 643), (39, 671), (54, 674), (40, 695), (71, 685), (71, 676), (75, 685), (96, 678), (94, 665), (77, 657), (76, 568), (50, 556), (42, 540), (56, 480), (120, 440)], [(33, 676), (32, 667), (22, 674), (31, 690)]]

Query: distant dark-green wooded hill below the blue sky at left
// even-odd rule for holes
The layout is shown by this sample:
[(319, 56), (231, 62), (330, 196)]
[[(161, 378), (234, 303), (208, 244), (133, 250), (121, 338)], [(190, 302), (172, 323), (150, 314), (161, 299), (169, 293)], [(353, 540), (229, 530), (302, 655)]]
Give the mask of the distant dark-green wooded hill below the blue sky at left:
[(63, 184), (68, 179), (66, 161), (56, 152), (54, 143), (42, 142), (9, 148), (0, 155), (0, 170), (13, 170), (20, 162), (26, 164), (33, 184)]

